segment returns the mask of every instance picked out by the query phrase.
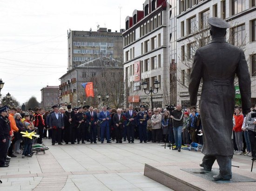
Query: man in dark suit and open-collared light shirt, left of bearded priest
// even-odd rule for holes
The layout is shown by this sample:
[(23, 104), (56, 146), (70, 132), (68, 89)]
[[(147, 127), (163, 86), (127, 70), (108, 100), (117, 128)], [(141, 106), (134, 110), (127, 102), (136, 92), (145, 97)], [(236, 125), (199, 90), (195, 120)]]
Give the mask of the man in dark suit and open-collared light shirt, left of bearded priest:
[(64, 121), (59, 113), (59, 108), (54, 108), (54, 113), (50, 115), (49, 127), (52, 129), (52, 145), (55, 145), (56, 140), (58, 145), (62, 145), (61, 132), (64, 129)]

